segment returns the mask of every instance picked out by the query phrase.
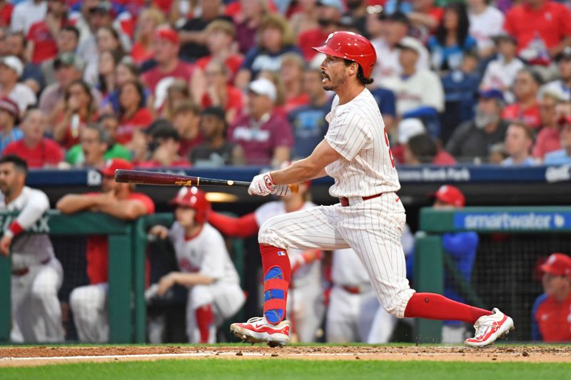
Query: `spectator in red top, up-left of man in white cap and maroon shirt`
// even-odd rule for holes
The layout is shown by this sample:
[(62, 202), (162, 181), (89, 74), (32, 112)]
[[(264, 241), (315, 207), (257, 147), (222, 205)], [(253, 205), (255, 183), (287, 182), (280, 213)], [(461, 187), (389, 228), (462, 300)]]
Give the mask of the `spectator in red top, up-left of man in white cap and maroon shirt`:
[(206, 92), (202, 107), (218, 106), (226, 113), (226, 122), (233, 123), (243, 107), (242, 91), (228, 83), (228, 69), (221, 61), (206, 66)]

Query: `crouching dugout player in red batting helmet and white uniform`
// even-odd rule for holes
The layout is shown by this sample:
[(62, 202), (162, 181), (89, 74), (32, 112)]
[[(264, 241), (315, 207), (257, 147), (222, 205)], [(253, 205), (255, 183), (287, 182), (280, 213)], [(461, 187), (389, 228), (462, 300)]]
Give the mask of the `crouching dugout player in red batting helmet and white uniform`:
[(206, 194), (181, 188), (171, 205), (176, 207), (171, 229), (156, 225), (151, 234), (171, 240), (180, 271), (163, 276), (157, 294), (165, 294), (174, 284), (188, 287), (188, 341), (216, 343), (216, 327), (244, 304), (240, 278), (222, 235), (207, 222), (211, 205)]

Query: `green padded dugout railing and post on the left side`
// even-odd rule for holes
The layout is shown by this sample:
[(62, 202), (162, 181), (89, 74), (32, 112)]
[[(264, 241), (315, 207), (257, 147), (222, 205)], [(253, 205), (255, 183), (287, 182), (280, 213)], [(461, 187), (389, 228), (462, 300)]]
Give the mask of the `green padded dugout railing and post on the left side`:
[[(17, 212), (0, 212), (2, 230), (9, 227), (16, 215)], [(57, 210), (49, 210), (25, 233), (45, 233), (51, 236), (106, 235), (109, 250), (109, 343), (144, 343), (147, 230), (152, 225), (169, 226), (172, 222), (171, 212), (126, 222), (101, 213), (63, 215)], [(231, 245), (233, 260), (243, 281), (243, 241), (233, 239)], [(85, 252), (74, 252), (74, 255), (85, 255)], [(11, 330), (11, 258), (3, 255), (0, 255), (0, 289), (0, 342), (7, 343), (10, 341)]]

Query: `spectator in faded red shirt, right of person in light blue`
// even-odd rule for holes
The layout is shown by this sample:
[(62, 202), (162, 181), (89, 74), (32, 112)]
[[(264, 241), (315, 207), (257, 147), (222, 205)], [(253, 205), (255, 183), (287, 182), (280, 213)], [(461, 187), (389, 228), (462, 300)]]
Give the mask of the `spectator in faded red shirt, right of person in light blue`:
[(532, 149), (532, 155), (535, 158), (542, 160), (545, 154), (561, 149), (560, 125), (557, 123), (559, 118), (557, 106), (560, 103), (562, 103), (561, 99), (555, 93), (546, 92), (541, 96), (540, 119), (542, 128), (537, 133)]

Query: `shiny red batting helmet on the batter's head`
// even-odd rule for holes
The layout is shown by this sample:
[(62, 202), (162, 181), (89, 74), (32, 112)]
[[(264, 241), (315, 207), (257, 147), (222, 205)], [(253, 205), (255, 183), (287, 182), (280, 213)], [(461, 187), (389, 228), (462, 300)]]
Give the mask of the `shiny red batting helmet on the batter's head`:
[(328, 36), (323, 46), (313, 49), (327, 56), (359, 63), (365, 78), (370, 77), (373, 66), (377, 63), (377, 53), (373, 44), (367, 38), (351, 31), (335, 31)]

